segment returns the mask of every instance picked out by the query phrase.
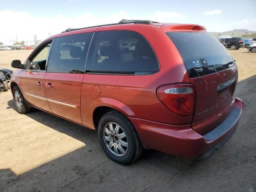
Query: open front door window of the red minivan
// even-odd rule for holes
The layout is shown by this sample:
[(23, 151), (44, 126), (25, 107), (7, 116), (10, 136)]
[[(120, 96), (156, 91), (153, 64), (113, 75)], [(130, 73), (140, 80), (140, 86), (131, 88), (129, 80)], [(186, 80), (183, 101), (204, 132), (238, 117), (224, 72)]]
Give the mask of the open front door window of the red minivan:
[(28, 70), (36, 70), (36, 71), (45, 70), (46, 60), (47, 60), (47, 56), (48, 56), (48, 52), (51, 44), (52, 42), (42, 46), (42, 48), (39, 50), (36, 56), (30, 59), (31, 62), (29, 62), (28, 64)]

